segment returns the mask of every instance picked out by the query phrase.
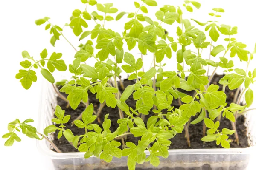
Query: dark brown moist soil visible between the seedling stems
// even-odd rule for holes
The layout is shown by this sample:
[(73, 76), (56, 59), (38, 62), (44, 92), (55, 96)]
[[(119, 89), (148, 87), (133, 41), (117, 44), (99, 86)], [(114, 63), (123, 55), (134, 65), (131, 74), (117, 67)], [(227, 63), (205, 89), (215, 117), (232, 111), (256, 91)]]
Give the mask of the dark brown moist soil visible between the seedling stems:
[[(212, 82), (211, 84), (217, 84), (220, 86), (220, 89), (222, 89), (222, 85), (218, 84), (219, 80), (221, 79), (221, 77), (223, 77), (223, 75), (216, 75), (212, 78)], [(125, 87), (127, 87), (128, 85), (132, 85), (135, 82), (132, 80), (124, 80), (123, 84)], [(61, 88), (61, 87), (59, 87)], [(122, 93), (122, 89), (119, 88), (119, 90)], [(181, 92), (186, 93), (190, 96), (194, 96), (195, 91), (184, 91), (182, 89)], [(230, 105), (230, 103), (233, 102), (236, 90), (229, 90), (228, 87), (226, 87), (225, 93), (227, 94), (227, 103), (228, 105)], [(97, 112), (99, 109), (99, 100), (96, 99), (96, 94), (92, 94), (90, 93), (90, 91), (88, 91), (88, 98), (89, 98), (89, 103), (93, 103), (94, 106), (94, 110)], [(64, 96), (67, 97), (67, 94), (63, 94)], [(136, 101), (133, 99), (133, 95), (131, 95), (127, 100), (126, 100), (126, 104), (128, 106), (130, 106), (131, 108), (135, 108), (135, 104)], [(65, 114), (70, 114), (71, 115), (71, 119), (70, 121), (66, 124), (66, 128), (70, 129), (74, 135), (83, 135), (84, 134), (84, 129), (80, 129), (77, 128), (75, 125), (72, 126), (72, 122), (74, 119), (76, 119), (85, 109), (85, 105), (83, 105), (82, 103), (79, 105), (79, 107), (76, 110), (73, 110), (72, 108), (66, 108), (67, 102), (63, 101), (61, 98), (58, 97), (58, 105), (61, 106), (62, 109), (65, 110)], [(172, 102), (172, 106), (174, 106), (175, 108), (179, 108), (180, 105), (178, 103), (177, 100), (173, 100)], [(111, 132), (114, 132), (119, 125), (117, 124), (117, 120), (119, 119), (119, 111), (118, 108), (108, 108), (107, 106), (105, 106), (102, 109), (102, 112), (99, 116), (100, 122), (104, 122), (104, 116), (105, 114), (108, 114), (108, 119), (111, 119)], [(207, 113), (208, 114), (208, 113)], [(154, 113), (152, 111), (149, 111), (148, 115), (145, 115), (145, 119), (144, 122), (146, 124), (148, 118), (150, 116), (153, 116)], [(199, 115), (199, 113), (197, 113), (196, 116), (192, 116), (191, 121), (193, 121), (194, 119), (197, 118), (197, 116)], [(124, 114), (124, 116), (127, 116)], [(207, 115), (208, 116), (208, 115)], [(97, 119), (95, 120), (95, 122), (93, 122), (95, 124), (98, 124), (100, 127), (102, 127), (102, 123), (99, 123), (97, 121)], [(189, 137), (190, 137), (190, 143), (191, 143), (191, 147), (188, 147), (187, 142), (186, 142), (186, 138), (185, 136), (185, 130), (183, 130), (182, 133), (177, 133), (176, 136), (171, 140), (172, 144), (170, 145), (169, 149), (202, 149), (202, 148), (222, 148), (221, 145), (217, 146), (216, 142), (205, 142), (203, 143), (201, 141), (202, 135), (203, 135), (203, 124), (204, 121), (196, 124), (196, 125), (189, 125)], [(232, 126), (230, 124), (230, 120), (226, 119), (225, 117), (223, 118), (221, 116), (221, 121), (220, 121), (220, 127), (219, 129), (222, 128), (228, 128), (228, 129), (232, 129)], [(244, 148), (244, 147), (248, 147), (248, 137), (247, 137), (247, 127), (245, 125), (245, 117), (243, 115), (239, 116), (236, 120), (236, 130), (239, 136), (239, 145), (236, 144), (236, 138), (234, 135), (230, 135), (229, 139), (231, 139), (233, 142), (230, 143), (231, 148)], [(53, 136), (53, 142), (57, 145), (57, 147), (64, 153), (66, 152), (78, 152), (78, 150), (76, 148), (73, 147), (73, 145), (71, 145), (65, 138), (64, 136), (62, 136), (60, 139), (57, 138), (58, 133), (54, 133)], [(133, 142), (134, 144), (138, 144), (138, 140), (140, 140), (140, 137), (134, 137), (133, 135), (128, 135), (125, 139), (125, 142)], [(119, 141), (121, 142), (121, 141)]]

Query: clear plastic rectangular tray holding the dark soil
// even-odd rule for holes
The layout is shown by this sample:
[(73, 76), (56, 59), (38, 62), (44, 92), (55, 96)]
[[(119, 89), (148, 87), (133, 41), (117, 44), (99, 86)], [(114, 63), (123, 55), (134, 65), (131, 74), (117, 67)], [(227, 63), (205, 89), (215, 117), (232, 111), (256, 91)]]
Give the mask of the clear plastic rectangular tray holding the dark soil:
[[(56, 103), (56, 94), (52, 85), (43, 82), (41, 108), (38, 117), (38, 131), (51, 125), (51, 119)], [(256, 153), (256, 114), (247, 113), (248, 136), (251, 147), (233, 149), (183, 149), (169, 150), (167, 159), (160, 158), (160, 165), (153, 167), (149, 162), (137, 164), (138, 170), (245, 170), (252, 159), (252, 153)], [(40, 120), (40, 121), (39, 121)], [(49, 136), (51, 138), (51, 136)], [(37, 141), (37, 147), (41, 153), (49, 156), (55, 170), (128, 170), (127, 158), (117, 159), (113, 157), (111, 163), (106, 163), (94, 156), (84, 159), (84, 153), (56, 153), (50, 149), (45, 141)], [(149, 155), (148, 152), (145, 152)]]

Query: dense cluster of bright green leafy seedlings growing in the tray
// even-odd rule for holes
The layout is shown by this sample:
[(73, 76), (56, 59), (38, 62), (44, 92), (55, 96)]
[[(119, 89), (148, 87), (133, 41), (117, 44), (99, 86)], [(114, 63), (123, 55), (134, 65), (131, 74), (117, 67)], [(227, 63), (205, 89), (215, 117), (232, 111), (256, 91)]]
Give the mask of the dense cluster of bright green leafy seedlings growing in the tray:
[[(209, 13), (212, 20), (203, 23), (183, 18), (183, 11), (193, 12), (201, 7), (201, 4), (195, 1), (185, 0), (183, 6), (166, 5), (159, 9), (156, 7), (156, 1), (141, 0), (134, 2), (135, 12), (124, 11), (117, 15), (118, 9), (114, 8), (112, 3), (100, 4), (96, 0), (81, 2), (85, 10), (74, 10), (70, 23), (64, 26), (71, 28), (81, 42), (87, 39), (86, 43), (79, 45), (79, 50), (64, 37), (63, 28), (50, 23), (49, 17), (36, 20), (35, 23), (44, 25), (45, 30), (50, 30), (50, 43), (53, 46), (63, 37), (76, 50), (73, 63), (68, 65), (70, 73), (73, 74), (72, 78), (56, 83), (62, 86), (60, 92), (68, 94), (67, 98), (57, 91), (55, 86), (54, 88), (61, 99), (67, 102), (67, 107), (76, 109), (81, 102), (86, 105), (81, 116), (73, 118), (73, 124), (84, 129), (84, 134), (74, 136), (72, 131), (66, 128), (65, 124), (70, 120), (70, 115), (65, 116), (65, 111), (57, 106), (56, 118), (52, 119), (54, 124), (44, 129), (44, 135), (28, 125), (32, 119), (24, 122), (16, 119), (9, 123), (9, 133), (3, 135), (3, 138), (9, 138), (6, 146), (11, 146), (15, 140), (21, 141), (16, 134), (20, 131), (38, 140), (48, 139), (46, 136), (49, 133), (58, 133), (58, 139), (64, 136), (80, 152), (85, 152), (85, 158), (94, 155), (110, 162), (113, 156), (128, 156), (127, 165), (130, 170), (134, 170), (137, 163), (143, 164), (145, 161), (158, 166), (160, 156), (169, 156), (168, 149), (172, 138), (183, 130), (190, 146), (189, 124), (204, 121), (204, 134), (201, 136), (204, 142), (216, 141), (217, 145), (230, 148), (228, 135), (234, 133), (236, 142), (239, 142), (235, 123), (240, 114), (250, 110), (248, 108), (253, 102), (250, 86), (256, 81), (256, 69), (241, 69), (239, 65), (233, 64), (233, 60), (228, 60), (227, 56), (249, 65), (256, 49), (253, 52), (247, 51), (244, 43), (236, 41), (236, 26), (218, 23), (218, 17), (221, 17), (224, 9), (213, 8)], [(146, 16), (148, 6), (157, 8), (155, 18)], [(106, 28), (107, 22), (119, 23), (119, 20), (128, 21), (124, 29), (115, 32)], [(169, 32), (169, 27), (177, 28), (177, 32)], [(223, 45), (218, 43), (220, 34), (226, 37), (226, 43)], [(127, 46), (129, 51), (138, 48), (142, 57), (136, 59), (133, 54), (124, 50), (124, 46)], [(209, 51), (209, 56), (202, 56), (203, 50)], [(143, 68), (143, 55), (146, 54), (148, 58), (151, 56), (154, 63), (154, 67), (148, 71)], [(55, 69), (67, 70), (61, 53), (53, 52), (48, 57), (48, 51), (44, 49), (39, 60), (31, 57), (27, 51), (23, 51), (22, 56), (25, 61), (20, 62), (20, 65), (24, 69), (19, 70), (16, 78), (20, 79), (25, 89), (29, 89), (32, 82), (36, 82), (38, 69), (50, 83), (55, 83), (52, 76)], [(219, 62), (211, 60), (211, 56), (218, 56)], [(95, 59), (94, 66), (86, 64), (89, 58)], [(177, 71), (166, 69), (163, 61), (177, 61)], [(185, 65), (189, 69), (185, 69)], [(215, 68), (213, 73), (209, 73), (210, 67)], [(223, 85), (222, 89), (211, 84), (217, 69), (223, 70), (225, 74), (219, 81)], [(136, 83), (125, 88), (120, 79), (119, 84), (123, 90), (121, 94), (117, 80), (123, 71), (129, 74), (128, 80), (136, 80)], [(237, 89), (235, 99), (230, 105), (226, 102), (226, 87), (230, 90)], [(194, 91), (194, 95), (187, 95), (181, 90)], [(108, 116), (111, 113), (105, 115), (104, 122), (98, 120), (103, 129), (93, 123), (101, 110), (96, 112), (93, 104), (89, 104), (88, 91), (96, 94), (101, 103), (99, 108), (106, 106), (119, 109), (119, 127), (116, 131), (110, 130), (111, 120)], [(242, 105), (244, 94), (246, 104)], [(125, 102), (131, 95), (136, 100), (136, 106), (129, 106)], [(178, 109), (172, 106), (174, 100), (180, 103)], [(155, 114), (144, 123), (144, 115), (148, 115), (149, 111)], [(191, 121), (193, 116), (197, 118)], [(221, 116), (231, 121), (233, 129), (219, 128)], [(140, 137), (139, 143), (125, 143), (124, 137), (127, 135)], [(49, 139), (48, 141), (57, 152), (61, 152)], [(146, 156), (145, 150), (149, 151), (149, 156)]]

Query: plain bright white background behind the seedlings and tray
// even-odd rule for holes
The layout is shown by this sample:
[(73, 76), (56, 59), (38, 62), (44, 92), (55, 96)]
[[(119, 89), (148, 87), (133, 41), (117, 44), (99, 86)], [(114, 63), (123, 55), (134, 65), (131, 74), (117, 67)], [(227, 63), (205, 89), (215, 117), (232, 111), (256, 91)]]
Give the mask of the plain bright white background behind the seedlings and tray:
[[(138, 0), (139, 1), (139, 0)], [(99, 0), (100, 3), (113, 2), (114, 7), (121, 11), (134, 12), (133, 1), (131, 0)], [(182, 6), (180, 0), (157, 0), (158, 7), (164, 4)], [(247, 44), (247, 50), (253, 51), (256, 42), (255, 31), (255, 1), (253, 0), (205, 0), (200, 1), (202, 6), (200, 10), (194, 8), (193, 14), (186, 13), (184, 18), (195, 18), (201, 22), (212, 20), (207, 14), (211, 12), (211, 8), (224, 8), (225, 13), (222, 14), (220, 23), (231, 26), (238, 26), (239, 34), (235, 37), (239, 42)], [(7, 123), (12, 122), (16, 118), (21, 121), (27, 118), (32, 118), (35, 122), (32, 125), (37, 125), (38, 105), (41, 93), (41, 75), (38, 73), (38, 82), (33, 83), (29, 90), (25, 90), (19, 80), (15, 79), (15, 74), (21, 69), (19, 62), (23, 60), (21, 52), (23, 50), (29, 51), (31, 56), (38, 59), (40, 52), (47, 48), (48, 54), (54, 51), (63, 53), (65, 61), (72, 62), (75, 51), (62, 38), (61, 41), (56, 42), (56, 47), (50, 45), (49, 31), (44, 30), (44, 26), (36, 26), (34, 21), (36, 19), (48, 16), (51, 17), (51, 23), (58, 26), (64, 26), (64, 23), (69, 23), (69, 17), (72, 11), (76, 8), (83, 10), (84, 4), (80, 0), (1, 0), (0, 1), (0, 136), (7, 133)], [(93, 11), (95, 7), (89, 7), (88, 11)], [(148, 16), (154, 17), (156, 8), (149, 9)], [(153, 12), (152, 12), (153, 11)], [(113, 16), (115, 16), (114, 14)], [(125, 17), (126, 18), (126, 17)], [(128, 19), (122, 19), (125, 23)], [(89, 22), (89, 25), (94, 23)], [(192, 25), (196, 25), (191, 22)], [(107, 22), (106, 28), (114, 30), (122, 30), (123, 24), (116, 24), (114, 21)], [(164, 25), (166, 27), (166, 25)], [(177, 26), (167, 26), (169, 32), (172, 30), (170, 36), (176, 34)], [(198, 27), (203, 30), (204, 27)], [(171, 30), (171, 31), (170, 31)], [(85, 31), (85, 29), (84, 29)], [(75, 37), (70, 28), (64, 28), (64, 35), (76, 47), (80, 44), (78, 37)], [(119, 31), (119, 33), (121, 33)], [(223, 39), (223, 37), (222, 37)], [(82, 41), (85, 43), (85, 40)], [(218, 45), (220, 42), (214, 42)], [(79, 49), (79, 48), (77, 48)], [(205, 50), (206, 58), (209, 57), (209, 49)], [(133, 54), (137, 55), (138, 51)], [(203, 53), (204, 54), (204, 53)], [(169, 64), (175, 62), (175, 54), (171, 60), (167, 60)], [(148, 57), (148, 58), (146, 58)], [(237, 58), (237, 57), (236, 57)], [(216, 57), (218, 61), (218, 57)], [(144, 61), (149, 68), (152, 56), (145, 56)], [(90, 62), (89, 62), (90, 63)], [(69, 64), (69, 63), (66, 63)], [(236, 60), (238, 68), (244, 68), (238, 60)], [(255, 67), (256, 62), (253, 61), (251, 66)], [(174, 67), (176, 67), (176, 62)], [(166, 67), (169, 68), (169, 67)], [(173, 68), (172, 70), (175, 70)], [(245, 69), (245, 68), (244, 68)], [(252, 68), (251, 68), (252, 69)], [(221, 71), (221, 70), (220, 70)], [(255, 89), (255, 88), (254, 88)], [(255, 103), (255, 102), (254, 102)], [(26, 168), (27, 170), (51, 170), (52, 163), (44, 155), (38, 152), (35, 146), (35, 139), (29, 139), (23, 134), (19, 134), (22, 142), (15, 142), (12, 147), (4, 147), (5, 140), (0, 138), (0, 169), (15, 170)], [(26, 165), (25, 165), (26, 164)], [(5, 167), (5, 168), (4, 168)]]

